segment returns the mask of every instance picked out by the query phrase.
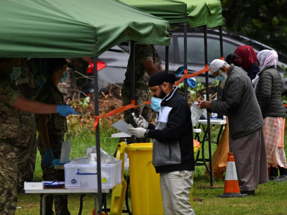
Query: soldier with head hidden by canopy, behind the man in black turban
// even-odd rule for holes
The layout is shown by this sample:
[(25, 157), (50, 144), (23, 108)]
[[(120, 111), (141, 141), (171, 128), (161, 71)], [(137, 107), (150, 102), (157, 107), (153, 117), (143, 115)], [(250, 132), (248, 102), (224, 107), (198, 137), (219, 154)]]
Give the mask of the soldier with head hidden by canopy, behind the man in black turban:
[[(129, 58), (126, 78), (124, 80), (123, 88), (121, 90), (123, 105), (131, 103), (131, 68), (132, 61)], [(149, 77), (157, 72), (163, 70), (161, 66), (160, 57), (153, 45), (146, 47), (135, 47), (135, 104), (141, 104), (151, 99), (149, 92), (148, 81)], [(136, 115), (142, 115), (148, 123), (152, 121), (152, 109), (150, 105), (141, 105), (135, 109)], [(126, 123), (132, 123), (133, 116), (131, 110), (124, 112), (124, 120)], [(120, 140), (121, 141), (121, 140)], [(132, 143), (132, 138), (127, 139), (127, 143)], [(149, 143), (149, 138), (136, 138), (136, 143)]]

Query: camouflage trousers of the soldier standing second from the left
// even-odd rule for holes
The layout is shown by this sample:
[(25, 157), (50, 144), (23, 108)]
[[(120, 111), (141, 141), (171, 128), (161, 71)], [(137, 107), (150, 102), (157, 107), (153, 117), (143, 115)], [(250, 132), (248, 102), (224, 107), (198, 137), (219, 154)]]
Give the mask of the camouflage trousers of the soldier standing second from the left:
[(37, 156), (36, 132), (21, 132), (21, 141), (15, 143), (18, 165), (18, 188), (23, 188), (24, 181), (33, 181)]

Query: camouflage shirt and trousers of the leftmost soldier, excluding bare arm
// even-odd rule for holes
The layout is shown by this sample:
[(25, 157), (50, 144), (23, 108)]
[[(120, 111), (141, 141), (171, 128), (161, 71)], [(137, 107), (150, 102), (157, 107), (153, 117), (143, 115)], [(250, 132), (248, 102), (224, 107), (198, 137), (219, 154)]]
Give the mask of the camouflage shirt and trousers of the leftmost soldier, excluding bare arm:
[(13, 103), (22, 94), (3, 70), (0, 70), (0, 214), (15, 214), (18, 168), (13, 144), (15, 139), (20, 140), (21, 124)]

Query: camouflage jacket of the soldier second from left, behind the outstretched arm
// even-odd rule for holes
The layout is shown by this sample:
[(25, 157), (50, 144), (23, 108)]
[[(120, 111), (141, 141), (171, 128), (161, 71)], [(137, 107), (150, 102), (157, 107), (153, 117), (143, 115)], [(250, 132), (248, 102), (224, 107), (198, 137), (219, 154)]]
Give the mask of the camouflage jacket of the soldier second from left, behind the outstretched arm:
[[(22, 59), (21, 61), (21, 75), (15, 80), (16, 85), (22, 83), (28, 83), (30, 88), (35, 88), (35, 78), (30, 72), (30, 69), (26, 65), (26, 62)], [(19, 111), (20, 122), (22, 130), (26, 132), (32, 132), (35, 130), (35, 115), (32, 113)]]

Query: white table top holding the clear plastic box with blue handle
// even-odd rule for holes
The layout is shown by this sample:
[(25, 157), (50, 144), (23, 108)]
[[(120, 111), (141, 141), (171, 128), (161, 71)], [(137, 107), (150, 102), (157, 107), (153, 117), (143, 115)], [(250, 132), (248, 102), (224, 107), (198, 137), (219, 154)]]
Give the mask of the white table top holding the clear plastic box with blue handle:
[[(97, 189), (80, 189), (80, 188), (44, 188), (42, 190), (25, 190), (25, 193), (51, 193), (51, 194), (72, 194), (72, 193), (97, 193)], [(109, 193), (109, 189), (102, 189), (102, 193)]]

